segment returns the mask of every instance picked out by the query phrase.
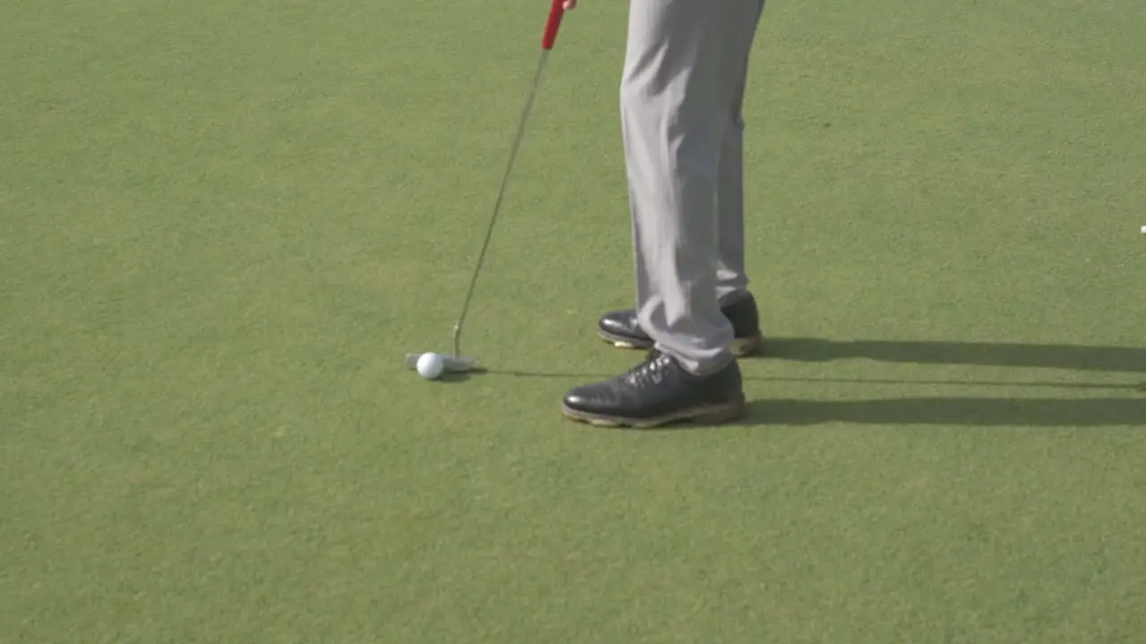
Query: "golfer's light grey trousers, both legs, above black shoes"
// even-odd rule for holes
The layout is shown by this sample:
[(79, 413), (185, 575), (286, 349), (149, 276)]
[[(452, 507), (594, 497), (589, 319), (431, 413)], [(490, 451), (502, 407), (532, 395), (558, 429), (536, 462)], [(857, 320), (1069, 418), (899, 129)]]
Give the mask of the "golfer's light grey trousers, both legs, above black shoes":
[(763, 0), (630, 0), (621, 126), (637, 314), (694, 374), (732, 355), (747, 292), (740, 105)]

